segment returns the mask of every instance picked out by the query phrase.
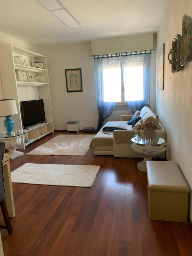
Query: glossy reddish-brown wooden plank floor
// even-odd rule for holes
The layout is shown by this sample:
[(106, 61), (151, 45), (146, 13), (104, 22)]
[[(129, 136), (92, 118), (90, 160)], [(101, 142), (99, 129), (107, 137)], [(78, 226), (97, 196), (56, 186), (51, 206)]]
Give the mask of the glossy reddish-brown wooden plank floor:
[[(25, 153), (63, 134), (26, 147)], [(13, 184), (13, 234), (1, 230), (5, 256), (191, 256), (189, 223), (149, 219), (146, 173), (140, 159), (24, 155), (24, 163), (100, 165), (91, 188)]]

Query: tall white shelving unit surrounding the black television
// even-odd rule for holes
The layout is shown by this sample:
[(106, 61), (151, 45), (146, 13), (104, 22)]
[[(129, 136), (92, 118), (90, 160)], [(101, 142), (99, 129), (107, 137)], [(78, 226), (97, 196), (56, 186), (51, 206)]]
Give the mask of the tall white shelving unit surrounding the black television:
[[(22, 59), (23, 61), (25, 59), (27, 65), (14, 63), (14, 56), (18, 55), (22, 55)], [(3, 97), (4, 99), (13, 98), (16, 100), (17, 104), (18, 115), (12, 116), (12, 119), (15, 121), (14, 130), (23, 129), (20, 111), (21, 101), (43, 99), (44, 102), (45, 117), (48, 122), (26, 127), (29, 130), (24, 129), (26, 133), (23, 136), (22, 143), (18, 149), (25, 149), (25, 146), (32, 143), (33, 141), (54, 132), (49, 77), (47, 70), (47, 58), (46, 56), (43, 56), (39, 53), (31, 52), (13, 45), (1, 45), (0, 56), (0, 72)], [(33, 61), (43, 62), (43, 69), (30, 66), (31, 57), (33, 57)], [(45, 82), (18, 82), (16, 81), (16, 71), (22, 72), (24, 74), (28, 72), (29, 76), (32, 76), (33, 78), (35, 75), (44, 76)], [(4, 118), (1, 119), (1, 123), (3, 120)], [(25, 143), (24, 139), (27, 137), (29, 138), (29, 142)]]

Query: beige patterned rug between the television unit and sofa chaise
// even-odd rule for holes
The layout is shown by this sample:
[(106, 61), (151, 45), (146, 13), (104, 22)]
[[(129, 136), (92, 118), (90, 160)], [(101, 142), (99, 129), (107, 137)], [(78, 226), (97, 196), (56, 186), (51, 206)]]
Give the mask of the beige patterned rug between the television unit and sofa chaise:
[(84, 156), (94, 136), (94, 134), (57, 135), (27, 155)]

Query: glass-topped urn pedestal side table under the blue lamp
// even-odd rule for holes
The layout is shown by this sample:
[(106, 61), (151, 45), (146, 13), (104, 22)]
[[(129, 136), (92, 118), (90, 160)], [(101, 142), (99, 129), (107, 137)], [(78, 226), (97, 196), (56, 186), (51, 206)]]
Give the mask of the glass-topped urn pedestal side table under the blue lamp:
[(21, 144), (21, 137), (24, 134), (24, 131), (15, 132), (14, 136), (2, 133), (0, 134), (0, 140), (5, 143), (5, 149), (9, 151), (10, 159), (23, 156), (23, 152), (16, 151), (16, 148)]

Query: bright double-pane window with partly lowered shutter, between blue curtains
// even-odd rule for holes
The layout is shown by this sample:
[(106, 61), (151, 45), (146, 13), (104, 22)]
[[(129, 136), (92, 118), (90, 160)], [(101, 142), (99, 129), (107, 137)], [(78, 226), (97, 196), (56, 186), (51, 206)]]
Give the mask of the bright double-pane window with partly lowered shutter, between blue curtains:
[(106, 58), (103, 85), (105, 102), (143, 100), (143, 56)]

